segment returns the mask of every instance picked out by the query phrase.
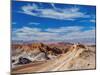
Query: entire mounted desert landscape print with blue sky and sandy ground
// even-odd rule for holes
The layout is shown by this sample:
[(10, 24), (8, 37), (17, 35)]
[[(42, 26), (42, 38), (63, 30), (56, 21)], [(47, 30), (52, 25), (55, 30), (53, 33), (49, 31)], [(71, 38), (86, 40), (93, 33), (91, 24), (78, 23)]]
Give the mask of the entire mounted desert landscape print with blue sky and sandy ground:
[(96, 6), (11, 4), (12, 74), (96, 69)]

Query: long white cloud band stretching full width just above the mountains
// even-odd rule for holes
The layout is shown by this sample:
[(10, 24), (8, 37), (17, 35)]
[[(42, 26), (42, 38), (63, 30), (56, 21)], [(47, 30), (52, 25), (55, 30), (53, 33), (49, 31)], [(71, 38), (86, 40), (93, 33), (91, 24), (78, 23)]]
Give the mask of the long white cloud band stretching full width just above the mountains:
[(73, 40), (83, 38), (95, 38), (95, 29), (81, 31), (84, 27), (70, 26), (60, 27), (58, 29), (44, 29), (23, 27), (16, 29), (12, 32), (13, 40), (38, 40), (38, 41), (51, 41), (51, 40)]

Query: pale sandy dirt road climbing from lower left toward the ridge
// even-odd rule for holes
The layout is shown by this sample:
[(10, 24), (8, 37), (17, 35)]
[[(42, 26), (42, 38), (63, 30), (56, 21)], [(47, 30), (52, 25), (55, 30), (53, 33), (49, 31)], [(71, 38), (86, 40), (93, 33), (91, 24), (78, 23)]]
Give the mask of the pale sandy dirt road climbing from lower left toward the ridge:
[[(30, 63), (24, 66), (13, 69), (12, 73), (32, 73), (32, 72), (46, 72), (46, 71), (58, 71), (63, 69), (64, 65), (67, 65), (72, 59), (76, 58), (83, 49), (73, 49), (58, 56), (56, 59), (48, 60), (41, 63)], [(66, 67), (67, 70), (67, 67)]]

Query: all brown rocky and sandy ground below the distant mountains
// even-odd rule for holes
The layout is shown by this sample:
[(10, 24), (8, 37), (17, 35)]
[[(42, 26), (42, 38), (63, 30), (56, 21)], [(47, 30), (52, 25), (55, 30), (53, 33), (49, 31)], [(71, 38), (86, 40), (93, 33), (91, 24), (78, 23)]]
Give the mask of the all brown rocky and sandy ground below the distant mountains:
[(12, 44), (12, 73), (95, 69), (95, 45)]

